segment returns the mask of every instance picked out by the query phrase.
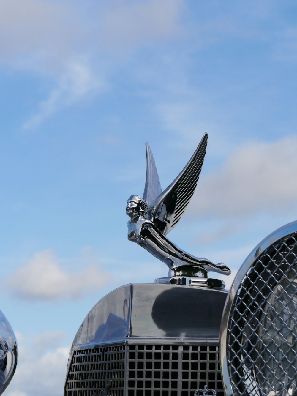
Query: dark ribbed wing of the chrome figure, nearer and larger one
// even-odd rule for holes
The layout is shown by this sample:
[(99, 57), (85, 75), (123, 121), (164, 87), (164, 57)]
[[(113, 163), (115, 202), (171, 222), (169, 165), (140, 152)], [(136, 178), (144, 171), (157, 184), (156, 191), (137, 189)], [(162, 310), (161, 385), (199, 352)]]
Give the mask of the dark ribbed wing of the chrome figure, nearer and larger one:
[(177, 225), (194, 193), (206, 153), (207, 138), (205, 133), (185, 168), (148, 209), (146, 217), (164, 235)]

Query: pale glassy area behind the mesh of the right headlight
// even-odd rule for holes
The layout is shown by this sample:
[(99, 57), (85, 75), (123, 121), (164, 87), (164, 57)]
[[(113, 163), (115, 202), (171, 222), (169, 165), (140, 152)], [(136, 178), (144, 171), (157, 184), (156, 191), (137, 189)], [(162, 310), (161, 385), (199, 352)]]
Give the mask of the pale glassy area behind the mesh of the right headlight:
[(293, 395), (297, 367), (297, 280), (295, 268), (272, 289), (263, 308), (257, 348), (259, 383), (265, 394)]

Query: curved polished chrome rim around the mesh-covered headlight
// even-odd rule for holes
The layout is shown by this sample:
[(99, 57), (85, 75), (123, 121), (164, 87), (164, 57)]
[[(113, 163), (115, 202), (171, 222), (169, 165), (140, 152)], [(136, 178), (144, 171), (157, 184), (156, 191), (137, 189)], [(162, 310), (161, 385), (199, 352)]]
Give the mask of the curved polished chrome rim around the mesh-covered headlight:
[[(227, 331), (229, 325), (230, 311), (233, 307), (233, 302), (237, 296), (238, 289), (240, 288), (244, 277), (246, 276), (249, 268), (258, 259), (258, 257), (264, 253), (272, 244), (297, 232), (297, 221), (293, 221), (283, 227), (278, 228), (264, 238), (247, 256), (246, 260), (238, 270), (236, 277), (230, 287), (225, 307), (223, 310), (221, 329), (220, 329), (220, 363), (222, 371), (222, 379), (225, 389), (226, 396), (231, 396), (234, 394), (229, 377), (228, 361), (227, 361)], [(255, 396), (258, 395), (258, 391), (254, 392)]]

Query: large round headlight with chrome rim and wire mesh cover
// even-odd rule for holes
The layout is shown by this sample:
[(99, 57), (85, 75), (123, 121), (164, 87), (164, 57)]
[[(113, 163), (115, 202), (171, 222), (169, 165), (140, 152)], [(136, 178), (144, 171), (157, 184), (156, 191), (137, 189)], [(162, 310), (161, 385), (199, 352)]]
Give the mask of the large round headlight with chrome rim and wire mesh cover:
[(238, 271), (220, 361), (227, 396), (297, 396), (297, 222), (268, 235)]

